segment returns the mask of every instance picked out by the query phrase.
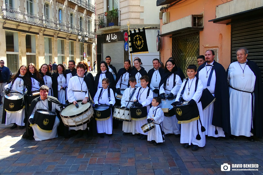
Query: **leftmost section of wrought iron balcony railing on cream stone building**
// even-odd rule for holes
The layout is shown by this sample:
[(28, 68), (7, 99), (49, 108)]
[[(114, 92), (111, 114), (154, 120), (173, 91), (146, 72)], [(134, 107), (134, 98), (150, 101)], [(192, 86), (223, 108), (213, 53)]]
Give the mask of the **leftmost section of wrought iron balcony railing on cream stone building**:
[(9, 6), (2, 6), (1, 10), (3, 12), (3, 19), (10, 19), (22, 23), (43, 26), (43, 16)]

